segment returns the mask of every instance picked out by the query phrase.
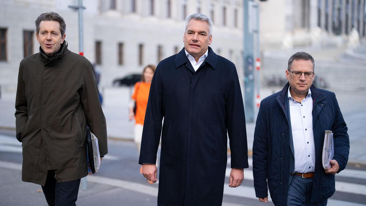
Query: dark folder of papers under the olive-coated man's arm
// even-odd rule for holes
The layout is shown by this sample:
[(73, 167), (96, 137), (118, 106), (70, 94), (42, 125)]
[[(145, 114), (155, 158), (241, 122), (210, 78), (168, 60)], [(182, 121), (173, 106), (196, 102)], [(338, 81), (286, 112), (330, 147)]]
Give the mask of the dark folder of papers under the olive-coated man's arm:
[(90, 132), (89, 127), (86, 130), (86, 139), (87, 139), (87, 155), (89, 158), (89, 165), (91, 173), (98, 172), (100, 165), (100, 154), (99, 154), (99, 146), (98, 139), (94, 136), (93, 133)]

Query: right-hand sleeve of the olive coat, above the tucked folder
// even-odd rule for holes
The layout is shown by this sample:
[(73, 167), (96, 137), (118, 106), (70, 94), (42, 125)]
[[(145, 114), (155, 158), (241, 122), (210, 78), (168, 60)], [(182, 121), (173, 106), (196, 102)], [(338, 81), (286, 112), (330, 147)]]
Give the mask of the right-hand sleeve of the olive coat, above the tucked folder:
[(107, 124), (98, 96), (98, 85), (89, 61), (84, 63), (83, 87), (80, 91), (87, 125), (98, 138), (100, 155), (108, 153)]

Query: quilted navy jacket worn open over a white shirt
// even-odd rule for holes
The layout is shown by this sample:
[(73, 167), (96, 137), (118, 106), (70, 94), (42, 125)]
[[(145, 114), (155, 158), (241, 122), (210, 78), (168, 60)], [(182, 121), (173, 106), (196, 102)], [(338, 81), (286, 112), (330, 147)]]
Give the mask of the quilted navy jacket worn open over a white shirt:
[[(289, 129), (287, 100), (287, 83), (282, 91), (277, 92), (261, 102), (254, 131), (253, 142), (253, 176), (255, 194), (258, 198), (270, 196), (275, 205), (287, 205), (287, 193), (290, 171), (294, 171)], [(338, 106), (336, 95), (314, 85), (310, 87), (313, 98), (313, 132), (315, 143), (315, 171), (311, 201), (329, 198), (335, 192), (333, 174), (326, 174), (322, 166), (322, 149), (325, 130), (333, 131), (335, 155), (339, 163), (339, 172), (348, 161), (350, 141), (347, 125)], [(288, 105), (288, 104), (287, 104)], [(293, 147), (293, 146), (292, 146)], [(291, 164), (292, 162), (292, 164)], [(291, 166), (290, 166), (291, 165)], [(268, 188), (267, 188), (268, 184)]]

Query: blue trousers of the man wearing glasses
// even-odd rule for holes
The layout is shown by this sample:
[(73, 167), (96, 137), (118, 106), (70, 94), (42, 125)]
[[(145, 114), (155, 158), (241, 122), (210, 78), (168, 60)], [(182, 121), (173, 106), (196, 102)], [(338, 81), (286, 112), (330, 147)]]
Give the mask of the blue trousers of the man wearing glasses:
[(288, 206), (325, 206), (328, 199), (311, 202), (311, 190), (313, 189), (314, 178), (303, 178), (298, 175), (292, 177), (288, 186)]

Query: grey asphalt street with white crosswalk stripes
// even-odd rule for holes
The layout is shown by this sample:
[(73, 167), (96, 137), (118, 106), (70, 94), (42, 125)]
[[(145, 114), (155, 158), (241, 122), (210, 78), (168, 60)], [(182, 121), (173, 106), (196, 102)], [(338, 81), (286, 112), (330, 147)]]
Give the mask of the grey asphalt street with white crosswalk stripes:
[[(22, 153), (14, 134), (14, 130), (0, 130), (0, 205), (46, 205), (39, 185), (21, 181)], [(139, 173), (135, 144), (132, 141), (110, 139), (108, 147), (109, 153), (103, 159), (97, 175), (88, 176), (86, 185), (81, 184), (76, 203), (104, 206), (156, 205), (158, 184), (147, 183)], [(254, 196), (251, 158), (249, 162), (250, 168), (244, 171), (242, 186), (229, 188), (226, 177), (223, 205), (264, 205)], [(366, 204), (366, 167), (348, 165), (346, 170), (336, 175), (336, 190), (328, 205)]]

